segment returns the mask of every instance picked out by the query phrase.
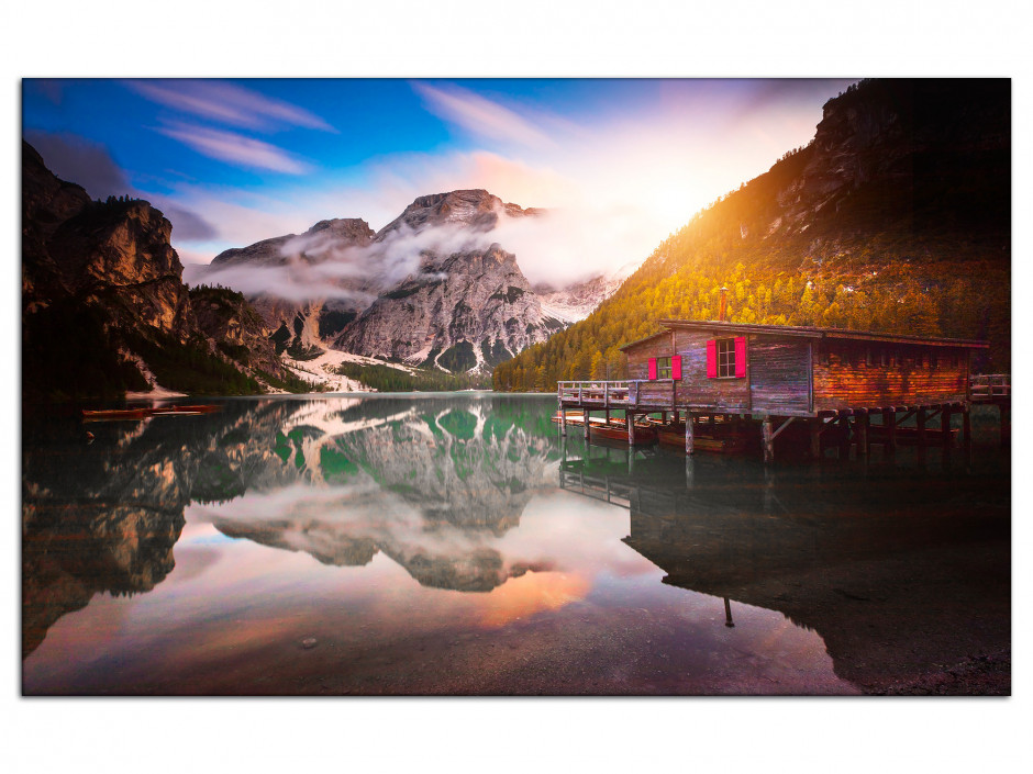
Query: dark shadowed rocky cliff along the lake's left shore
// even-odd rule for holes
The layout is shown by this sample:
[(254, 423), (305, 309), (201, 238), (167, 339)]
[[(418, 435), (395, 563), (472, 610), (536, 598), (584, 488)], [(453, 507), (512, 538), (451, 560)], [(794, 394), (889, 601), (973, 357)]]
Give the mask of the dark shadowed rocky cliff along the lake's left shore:
[(22, 190), (26, 402), (146, 391), (153, 385), (141, 368), (159, 372), (166, 388), (254, 392), (249, 369), (242, 373), (225, 354), (233, 347), (286, 375), (254, 314), (209, 304), (199, 318), (169, 242), (173, 226), (158, 210), (129, 198), (91, 200), (27, 143)]

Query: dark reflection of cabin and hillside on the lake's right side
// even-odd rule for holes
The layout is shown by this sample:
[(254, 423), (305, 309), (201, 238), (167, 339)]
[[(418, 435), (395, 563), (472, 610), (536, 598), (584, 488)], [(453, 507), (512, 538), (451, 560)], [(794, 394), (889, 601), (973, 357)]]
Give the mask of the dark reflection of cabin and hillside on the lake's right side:
[(867, 693), (1010, 693), (1007, 480), (585, 453), (560, 486), (626, 507), (624, 542), (665, 584), (723, 598), (725, 626), (737, 604), (778, 610)]

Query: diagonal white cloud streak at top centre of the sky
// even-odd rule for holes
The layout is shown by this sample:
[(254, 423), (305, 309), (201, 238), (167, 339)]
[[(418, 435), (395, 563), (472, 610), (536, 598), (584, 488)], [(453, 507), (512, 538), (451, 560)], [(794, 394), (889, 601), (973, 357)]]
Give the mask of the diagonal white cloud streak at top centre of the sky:
[(473, 91), (420, 82), (414, 82), (412, 88), (432, 113), (471, 134), (527, 147), (555, 145), (548, 134), (524, 116)]

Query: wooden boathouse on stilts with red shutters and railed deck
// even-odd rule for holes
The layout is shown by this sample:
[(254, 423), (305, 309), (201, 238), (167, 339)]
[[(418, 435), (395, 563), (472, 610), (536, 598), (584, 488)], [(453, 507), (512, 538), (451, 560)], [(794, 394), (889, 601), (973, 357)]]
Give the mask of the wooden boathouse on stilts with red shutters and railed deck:
[[(904, 435), (920, 448), (930, 438), (948, 445), (955, 413), (968, 442), (971, 404), (985, 399), (978, 388), (974, 396), (970, 373), (971, 355), (987, 349), (985, 341), (720, 321), (659, 324), (660, 333), (621, 347), (629, 379), (559, 382), (564, 435), (568, 410), (580, 411), (586, 437), (592, 411), (609, 426), (610, 412), (623, 410), (631, 445), (636, 418), (659, 414), (668, 427), (684, 424), (689, 455), (701, 428), (759, 423), (765, 460), (774, 459), (775, 439), (793, 424), (807, 427), (815, 458), (832, 429), (867, 456), (873, 434), (890, 450)], [(1002, 383), (989, 393), (1001, 405), (1003, 433), (1010, 385)], [(906, 427), (912, 417), (914, 426)], [(938, 428), (930, 424), (935, 419)]]

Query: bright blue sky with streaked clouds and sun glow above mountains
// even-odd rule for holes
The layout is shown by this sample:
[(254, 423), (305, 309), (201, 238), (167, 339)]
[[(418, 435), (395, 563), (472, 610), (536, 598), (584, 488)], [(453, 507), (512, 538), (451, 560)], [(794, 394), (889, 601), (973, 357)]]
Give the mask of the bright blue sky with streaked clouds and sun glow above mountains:
[(91, 195), (165, 212), (185, 263), (485, 188), (564, 213), (515, 247), (532, 281), (573, 279), (645, 258), (807, 143), (849, 82), (31, 79), (23, 133)]

